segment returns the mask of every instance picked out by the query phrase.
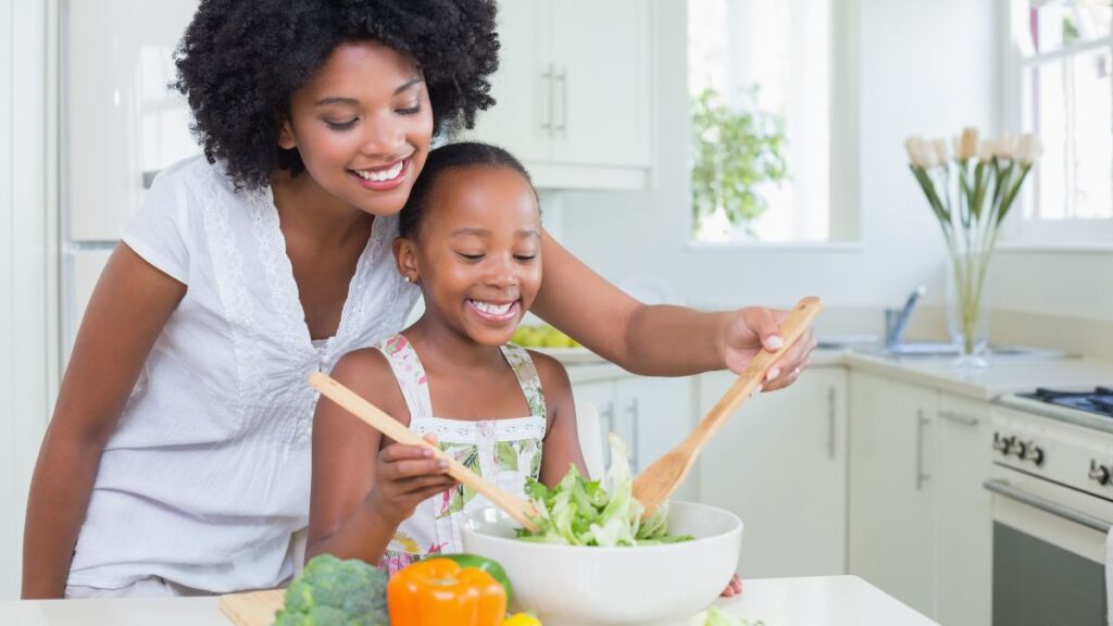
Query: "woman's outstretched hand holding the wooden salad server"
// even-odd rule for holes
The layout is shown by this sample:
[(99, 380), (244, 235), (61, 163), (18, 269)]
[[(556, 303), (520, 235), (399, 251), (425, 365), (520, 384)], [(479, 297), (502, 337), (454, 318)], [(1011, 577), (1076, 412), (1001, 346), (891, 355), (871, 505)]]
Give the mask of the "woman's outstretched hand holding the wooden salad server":
[[(731, 314), (723, 331), (723, 358), (727, 366), (741, 373), (762, 349), (770, 352), (779, 350), (785, 341), (779, 334), (780, 323), (787, 315), (788, 311), (757, 306), (740, 309)], [(815, 348), (815, 332), (809, 326), (799, 341), (769, 370), (762, 390), (784, 389), (796, 382), (800, 372), (808, 366), (808, 358)]]

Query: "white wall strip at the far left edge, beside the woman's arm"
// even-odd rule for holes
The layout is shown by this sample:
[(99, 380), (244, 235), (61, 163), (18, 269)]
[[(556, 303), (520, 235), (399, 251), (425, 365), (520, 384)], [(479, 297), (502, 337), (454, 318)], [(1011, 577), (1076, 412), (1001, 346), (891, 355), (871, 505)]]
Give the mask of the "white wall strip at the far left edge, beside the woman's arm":
[(27, 488), (57, 378), (50, 6), (0, 0), (0, 599), (19, 596)]

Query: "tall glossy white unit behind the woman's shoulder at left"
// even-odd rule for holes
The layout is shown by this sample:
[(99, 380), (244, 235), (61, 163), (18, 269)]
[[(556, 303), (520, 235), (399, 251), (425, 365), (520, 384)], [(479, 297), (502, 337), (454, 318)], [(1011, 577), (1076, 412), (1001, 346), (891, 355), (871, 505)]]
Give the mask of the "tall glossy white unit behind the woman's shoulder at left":
[(200, 153), (170, 84), (198, 0), (63, 0), (60, 72), (61, 350), (164, 167)]

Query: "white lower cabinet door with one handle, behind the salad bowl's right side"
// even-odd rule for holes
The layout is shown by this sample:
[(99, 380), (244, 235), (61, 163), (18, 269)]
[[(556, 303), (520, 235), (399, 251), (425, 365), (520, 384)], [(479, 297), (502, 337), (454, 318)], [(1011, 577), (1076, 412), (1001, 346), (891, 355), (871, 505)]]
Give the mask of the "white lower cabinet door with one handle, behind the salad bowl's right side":
[[(792, 387), (750, 399), (699, 459), (699, 499), (745, 524), (743, 578), (846, 570), (846, 370), (811, 366)], [(699, 414), (737, 376), (699, 376)]]

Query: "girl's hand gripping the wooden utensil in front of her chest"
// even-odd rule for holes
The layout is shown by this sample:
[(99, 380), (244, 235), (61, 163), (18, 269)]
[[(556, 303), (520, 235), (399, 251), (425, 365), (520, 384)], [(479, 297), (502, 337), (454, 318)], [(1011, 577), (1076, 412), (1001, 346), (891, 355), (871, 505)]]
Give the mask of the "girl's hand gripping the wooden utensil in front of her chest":
[[(426, 434), (425, 440), (436, 444), (433, 434)], [(382, 519), (397, 526), (422, 501), (456, 486), (447, 472), (447, 461), (437, 459), (429, 448), (392, 443), (378, 452), (375, 486), (367, 500)]]

